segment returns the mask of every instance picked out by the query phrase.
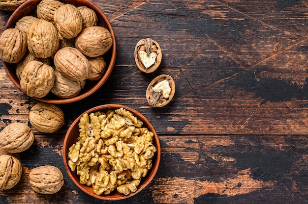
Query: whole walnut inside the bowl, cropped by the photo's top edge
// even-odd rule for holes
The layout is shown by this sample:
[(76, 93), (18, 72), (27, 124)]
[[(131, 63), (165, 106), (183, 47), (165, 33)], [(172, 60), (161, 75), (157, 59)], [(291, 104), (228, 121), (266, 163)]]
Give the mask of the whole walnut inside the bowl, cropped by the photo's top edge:
[(54, 14), (62, 5), (64, 3), (59, 0), (42, 0), (36, 7), (36, 15), (40, 19), (54, 23)]

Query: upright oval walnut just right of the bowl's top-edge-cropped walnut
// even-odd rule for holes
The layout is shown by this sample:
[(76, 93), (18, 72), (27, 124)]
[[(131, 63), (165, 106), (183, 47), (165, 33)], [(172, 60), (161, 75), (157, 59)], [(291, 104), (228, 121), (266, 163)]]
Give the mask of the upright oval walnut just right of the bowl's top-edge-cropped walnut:
[(54, 14), (54, 22), (63, 38), (74, 38), (82, 30), (82, 16), (76, 6), (64, 4)]

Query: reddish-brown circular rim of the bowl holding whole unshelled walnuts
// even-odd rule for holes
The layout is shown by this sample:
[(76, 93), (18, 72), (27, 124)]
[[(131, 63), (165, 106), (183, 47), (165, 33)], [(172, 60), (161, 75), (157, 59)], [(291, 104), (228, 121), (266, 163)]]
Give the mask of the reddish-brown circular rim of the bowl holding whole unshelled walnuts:
[[(15, 19), (15, 15), (19, 12), (22, 12), (23, 9), (25, 7), (28, 7), (29, 5), (32, 4), (38, 4), (41, 0), (27, 0), (24, 3), (22, 3), (9, 17), (9, 19), (7, 20), (6, 24), (5, 24), (5, 29), (11, 28), (13, 25), (9, 24), (10, 22), (14, 21), (16, 23), (16, 19)], [(61, 0), (60, 0), (61, 1)], [(81, 0), (75, 0), (76, 3), (79, 3)], [(97, 83), (95, 85), (93, 85), (93, 87), (91, 89), (89, 89), (87, 92), (82, 93), (82, 94), (78, 94), (75, 97), (72, 98), (60, 98), (59, 99), (46, 99), (46, 98), (36, 98), (36, 97), (31, 97), (32, 99), (35, 99), (37, 101), (41, 101), (41, 102), (48, 102), (48, 103), (55, 103), (55, 104), (64, 104), (64, 103), (72, 103), (72, 102), (78, 102), (80, 100), (83, 100), (89, 96), (91, 96), (94, 92), (96, 92), (106, 81), (107, 79), (110, 77), (111, 72), (115, 66), (115, 61), (116, 61), (116, 37), (115, 37), (115, 33), (113, 30), (113, 27), (111, 26), (111, 23), (109, 21), (109, 19), (107, 18), (107, 16), (103, 13), (103, 11), (96, 5), (94, 4), (92, 1), (90, 0), (82, 0), (82, 1), (86, 1), (87, 5), (90, 5), (92, 8), (95, 8), (95, 12), (97, 12), (99, 15), (101, 15), (102, 19), (104, 20), (104, 22), (102, 22), (102, 24), (105, 24), (108, 27), (108, 30), (111, 33), (112, 36), (112, 40), (113, 40), (113, 44), (112, 44), (112, 53), (111, 53), (111, 58), (110, 58), (110, 62), (108, 67), (106, 67), (106, 71), (103, 75), (103, 77), (101, 79), (99, 79), (97, 81)], [(13, 24), (13, 23), (12, 23)], [(110, 51), (109, 50), (109, 51)], [(15, 77), (13, 76), (13, 74), (11, 73), (10, 69), (8, 68), (8, 64), (7, 62), (4, 62), (2, 59), (2, 64), (4, 67), (4, 70), (6, 72), (6, 74), (8, 75), (8, 77), (10, 78), (10, 80), (13, 82), (13, 84), (20, 89), (24, 94), (27, 95), (27, 93), (21, 88), (20, 83), (18, 83), (18, 81), (15, 80)], [(87, 81), (89, 83), (89, 81)], [(27, 95), (29, 96), (29, 95)], [(30, 96), (29, 96), (30, 97)]]

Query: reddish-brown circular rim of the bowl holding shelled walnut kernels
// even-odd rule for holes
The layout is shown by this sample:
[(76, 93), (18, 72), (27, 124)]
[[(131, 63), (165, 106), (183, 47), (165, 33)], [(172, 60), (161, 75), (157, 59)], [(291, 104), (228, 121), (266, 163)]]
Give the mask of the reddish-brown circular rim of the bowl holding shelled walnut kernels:
[[(81, 117), (85, 114), (85, 113), (92, 113), (92, 112), (95, 112), (95, 111), (106, 111), (106, 110), (116, 110), (116, 109), (119, 109), (119, 108), (124, 108), (125, 110), (128, 110), (130, 111), (135, 117), (137, 117), (138, 119), (140, 119), (144, 124), (146, 123), (147, 124), (147, 128), (149, 130), (151, 130), (153, 133), (154, 133), (154, 139), (155, 139), (155, 142), (156, 142), (156, 149), (157, 151), (155, 152), (155, 162), (152, 164), (152, 167), (151, 167), (151, 175), (146, 179), (146, 181), (144, 182), (144, 185), (142, 186), (138, 186), (138, 189), (136, 192), (134, 193), (129, 193), (128, 195), (123, 195), (123, 196), (119, 196), (119, 197), (112, 197), (112, 196), (108, 196), (108, 195), (97, 195), (97, 194), (91, 194), (90, 192), (88, 192), (85, 188), (84, 188), (84, 184), (81, 184), (79, 182), (79, 180), (77, 179), (74, 179), (73, 177), (73, 173), (71, 170), (70, 170), (70, 167), (68, 166), (68, 152), (69, 152), (69, 148), (70, 147), (67, 147), (66, 146), (66, 143), (67, 143), (67, 140), (68, 140), (68, 137), (69, 137), (69, 133), (72, 131), (72, 129), (80, 122), (80, 119)], [(77, 137), (76, 137), (76, 140), (77, 140)], [(62, 150), (62, 157), (63, 157), (63, 163), (64, 163), (64, 167), (65, 167), (65, 170), (69, 176), (69, 178), (75, 183), (75, 185), (81, 189), (83, 192), (87, 193), (88, 195), (94, 197), (94, 198), (97, 198), (97, 199), (100, 199), (100, 200), (106, 200), (106, 201), (119, 201), (119, 200), (123, 200), (123, 199), (126, 199), (126, 198), (129, 198), (129, 197), (132, 197), (134, 195), (136, 195), (137, 193), (139, 193), (141, 190), (143, 190), (152, 180), (153, 178), (155, 177), (156, 175), (156, 172), (158, 170), (158, 166), (159, 166), (159, 163), (160, 163), (160, 154), (161, 154), (161, 149), (160, 149), (160, 142), (159, 142), (159, 138), (158, 138), (158, 135), (157, 135), (157, 132), (155, 131), (153, 125), (150, 123), (150, 121), (142, 114), (140, 113), (139, 111), (137, 111), (136, 109), (134, 108), (131, 108), (129, 106), (126, 106), (126, 105), (122, 105), (122, 104), (102, 104), (102, 105), (98, 105), (98, 106), (95, 106), (95, 107), (92, 107), (88, 110), (86, 110), (85, 112), (83, 112), (82, 114), (80, 114), (73, 122), (72, 124), (70, 125), (70, 127), (68, 128), (66, 134), (65, 134), (65, 137), (64, 137), (64, 141), (63, 141), (63, 150)]]

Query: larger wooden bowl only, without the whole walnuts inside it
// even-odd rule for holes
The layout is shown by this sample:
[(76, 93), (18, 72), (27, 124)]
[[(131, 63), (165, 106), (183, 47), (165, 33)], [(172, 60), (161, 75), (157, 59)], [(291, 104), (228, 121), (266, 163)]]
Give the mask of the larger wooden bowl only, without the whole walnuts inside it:
[[(27, 0), (25, 3), (23, 3), (21, 6), (19, 6), (12, 13), (10, 18), (8, 19), (6, 26), (5, 26), (5, 29), (6, 28), (14, 28), (16, 22), (24, 16), (35, 16), (36, 17), (36, 6), (39, 4), (40, 1), (41, 0)], [(116, 38), (115, 38), (113, 28), (112, 28), (109, 20), (105, 16), (105, 14), (94, 3), (92, 3), (90, 0), (60, 0), (60, 1), (62, 1), (63, 3), (70, 3), (70, 4), (72, 4), (76, 7), (87, 6), (87, 7), (91, 8), (92, 10), (94, 10), (96, 15), (97, 15), (97, 18), (98, 18), (97, 26), (103, 26), (107, 30), (109, 30), (109, 32), (111, 33), (111, 36), (113, 38), (113, 45), (109, 49), (109, 51), (107, 51), (103, 55), (103, 57), (106, 61), (106, 65), (107, 65), (103, 77), (100, 80), (97, 80), (97, 81), (87, 80), (84, 89), (76, 97), (69, 98), (69, 99), (63, 99), (63, 98), (60, 98), (60, 97), (53, 95), (52, 93), (49, 93), (47, 96), (45, 96), (43, 98), (32, 97), (33, 99), (35, 99), (37, 101), (49, 102), (49, 103), (58, 103), (58, 104), (77, 102), (77, 101), (80, 101), (80, 100), (85, 99), (86, 97), (92, 95), (95, 91), (97, 91), (107, 81), (107, 79), (110, 76), (112, 69), (115, 65), (115, 61), (116, 61)], [(7, 63), (7, 62), (3, 62), (3, 61), (2, 61), (2, 63), (3, 63), (4, 69), (7, 73), (7, 75), (11, 79), (11, 81), (15, 84), (15, 86), (17, 88), (19, 88), (23, 93), (26, 94), (26, 92), (20, 86), (20, 80), (16, 76), (16, 64)]]

